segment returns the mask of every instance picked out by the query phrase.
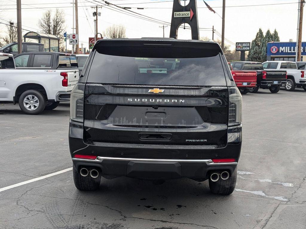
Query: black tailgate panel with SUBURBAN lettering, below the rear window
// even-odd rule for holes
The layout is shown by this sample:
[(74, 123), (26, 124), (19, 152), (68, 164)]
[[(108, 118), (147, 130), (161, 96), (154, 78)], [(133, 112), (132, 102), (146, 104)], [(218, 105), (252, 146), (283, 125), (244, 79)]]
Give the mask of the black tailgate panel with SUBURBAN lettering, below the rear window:
[(84, 142), (224, 145), (227, 88), (86, 84)]

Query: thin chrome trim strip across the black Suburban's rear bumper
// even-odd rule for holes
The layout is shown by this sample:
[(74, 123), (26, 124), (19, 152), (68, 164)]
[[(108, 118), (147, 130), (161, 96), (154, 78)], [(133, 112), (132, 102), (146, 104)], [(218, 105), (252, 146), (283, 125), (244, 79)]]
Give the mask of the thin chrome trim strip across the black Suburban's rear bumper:
[(238, 162), (214, 163), (211, 159), (147, 159), (147, 158), (110, 158), (97, 157), (95, 160), (72, 158), (73, 161), (102, 162), (103, 160), (115, 161), (142, 161), (142, 162), (205, 162), (207, 165), (237, 165)]

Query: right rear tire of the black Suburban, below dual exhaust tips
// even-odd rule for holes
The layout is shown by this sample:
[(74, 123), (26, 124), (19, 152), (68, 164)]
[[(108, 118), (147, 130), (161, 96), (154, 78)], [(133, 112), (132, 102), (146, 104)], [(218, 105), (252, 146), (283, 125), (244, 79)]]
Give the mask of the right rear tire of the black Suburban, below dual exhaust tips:
[(236, 180), (237, 180), (237, 167), (233, 171), (232, 176), (230, 176), (227, 180), (222, 180), (221, 178), (219, 178), (219, 180), (214, 182), (211, 181), (211, 179), (208, 179), (209, 189), (214, 194), (229, 195), (235, 190)]

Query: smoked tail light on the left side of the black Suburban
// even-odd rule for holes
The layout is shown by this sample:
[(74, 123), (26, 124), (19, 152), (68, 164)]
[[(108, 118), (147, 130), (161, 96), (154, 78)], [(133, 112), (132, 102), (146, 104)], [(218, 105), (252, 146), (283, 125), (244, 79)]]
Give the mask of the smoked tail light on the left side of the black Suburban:
[(70, 95), (70, 119), (84, 122), (84, 91), (85, 84), (77, 83)]

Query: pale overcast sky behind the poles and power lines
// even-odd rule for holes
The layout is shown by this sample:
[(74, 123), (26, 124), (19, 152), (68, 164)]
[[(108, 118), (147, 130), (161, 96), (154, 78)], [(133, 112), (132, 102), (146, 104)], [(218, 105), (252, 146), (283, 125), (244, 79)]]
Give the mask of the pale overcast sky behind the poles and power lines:
[[(0, 0), (2, 2), (0, 18), (4, 20), (16, 21), (16, 0)], [(47, 4), (41, 4), (45, 2)], [(79, 2), (79, 40), (83, 43), (83, 47), (88, 48), (88, 37), (94, 36), (94, 17), (90, 6), (103, 5), (103, 1), (98, 0), (78, 0)], [(173, 2), (170, 0), (108, 0), (113, 4), (120, 4), (120, 6), (128, 7), (144, 7), (145, 9), (131, 9), (134, 12), (155, 18), (158, 20), (171, 22), (171, 13)], [(147, 2), (146, 4), (140, 4)], [(186, 1), (187, 4), (188, 1)], [(206, 0), (206, 2), (217, 12), (209, 11), (203, 0), (197, 1), (198, 6), (198, 21), (200, 28), (212, 28), (221, 34), (222, 31), (222, 0)], [(289, 41), (293, 39), (296, 41), (297, 37), (297, 8), (298, 0), (226, 0), (225, 12), (225, 38), (226, 44), (230, 42), (251, 42), (254, 39), (256, 32), (261, 27), (265, 33), (267, 29), (271, 32), (274, 28), (278, 30), (281, 41)], [(65, 11), (66, 30), (67, 33), (72, 33), (72, 0), (21, 0), (22, 3), (22, 27), (23, 29), (39, 31), (37, 26), (38, 19), (43, 12), (48, 10), (55, 11), (55, 7)], [(135, 4), (130, 4), (135, 3)], [(282, 3), (282, 4), (280, 4)], [(27, 4), (27, 5), (25, 5)], [(35, 5), (31, 5), (35, 4)], [(38, 5), (39, 4), (39, 5)], [(261, 4), (278, 4), (278, 5), (261, 5)], [(241, 5), (261, 5), (261, 6), (244, 6)], [(87, 7), (85, 7), (87, 6)], [(235, 7), (230, 7), (235, 6)], [(36, 7), (36, 8), (33, 8)], [(33, 9), (25, 9), (33, 8)], [(40, 9), (43, 8), (43, 9)], [(118, 10), (118, 9), (116, 9)], [(98, 17), (98, 32), (103, 30), (111, 24), (122, 24), (126, 28), (126, 36), (128, 38), (141, 37), (162, 37), (162, 24), (142, 20), (133, 16), (126, 15), (111, 10), (110, 7), (103, 7), (99, 9), (101, 16)], [(219, 16), (220, 15), (220, 16)], [(304, 14), (305, 15), (305, 14)], [(304, 16), (305, 18), (305, 16)], [(6, 23), (0, 19), (0, 22)], [(306, 22), (304, 21), (304, 24)], [(3, 34), (4, 25), (0, 24), (0, 31)], [(26, 31), (25, 31), (26, 32)], [(165, 37), (169, 37), (170, 27), (165, 28)], [(303, 30), (302, 39), (305, 37), (305, 29)], [(201, 37), (212, 37), (211, 29), (200, 30)], [(188, 29), (180, 29), (178, 31), (178, 38), (190, 39), (191, 31)], [(215, 34), (215, 38), (219, 38)], [(80, 45), (81, 47), (81, 45)], [(71, 45), (67, 48), (71, 49)], [(234, 48), (234, 46), (232, 46)]]

